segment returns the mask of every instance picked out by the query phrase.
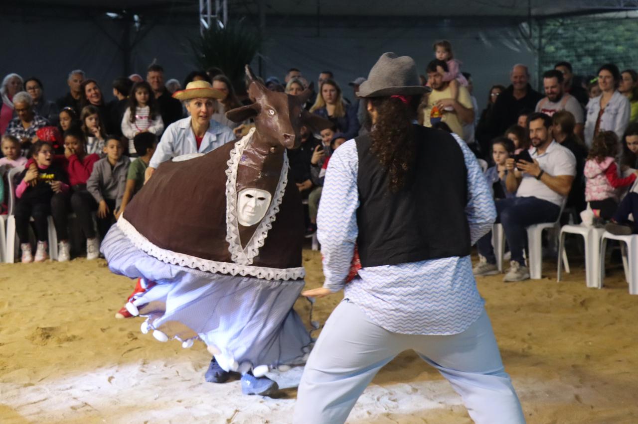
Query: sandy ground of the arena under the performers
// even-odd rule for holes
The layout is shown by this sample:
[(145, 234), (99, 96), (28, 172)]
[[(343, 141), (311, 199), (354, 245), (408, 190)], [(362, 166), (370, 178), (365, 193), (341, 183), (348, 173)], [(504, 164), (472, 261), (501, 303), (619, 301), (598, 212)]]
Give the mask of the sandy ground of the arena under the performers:
[[(318, 252), (304, 252), (308, 286), (322, 283)], [(621, 267), (586, 288), (582, 262), (556, 282), (480, 278), (479, 289), (528, 423), (638, 422), (638, 296)], [(245, 397), (239, 381), (205, 383), (202, 343), (184, 350), (115, 320), (130, 279), (103, 260), (0, 265), (1, 423), (288, 423), (296, 391)], [(325, 322), (341, 296), (318, 300)], [(304, 314), (307, 303), (297, 302)], [(306, 316), (306, 314), (304, 314)], [(292, 371), (294, 374), (294, 371)], [(449, 383), (412, 352), (376, 376), (349, 423), (467, 423)]]

